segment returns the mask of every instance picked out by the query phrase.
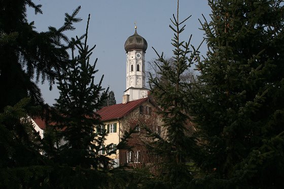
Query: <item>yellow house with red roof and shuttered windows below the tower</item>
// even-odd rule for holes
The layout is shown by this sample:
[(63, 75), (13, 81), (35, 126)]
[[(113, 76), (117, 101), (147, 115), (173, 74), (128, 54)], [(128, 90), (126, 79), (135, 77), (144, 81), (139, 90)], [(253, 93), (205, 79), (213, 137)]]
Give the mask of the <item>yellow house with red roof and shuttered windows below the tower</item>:
[[(134, 130), (132, 137), (128, 140), (131, 149), (116, 150), (116, 154), (111, 158), (116, 165), (124, 164), (144, 164), (147, 163), (145, 156), (145, 140), (146, 133), (142, 127), (150, 126), (151, 130), (161, 133), (161, 119), (154, 113), (156, 107), (149, 97), (141, 98), (133, 101), (126, 101), (120, 104), (106, 106), (97, 111), (103, 122), (103, 129), (107, 130), (108, 136), (104, 141), (104, 146), (112, 144), (115, 148), (121, 141), (125, 132)], [(107, 154), (101, 150), (100, 154)]]

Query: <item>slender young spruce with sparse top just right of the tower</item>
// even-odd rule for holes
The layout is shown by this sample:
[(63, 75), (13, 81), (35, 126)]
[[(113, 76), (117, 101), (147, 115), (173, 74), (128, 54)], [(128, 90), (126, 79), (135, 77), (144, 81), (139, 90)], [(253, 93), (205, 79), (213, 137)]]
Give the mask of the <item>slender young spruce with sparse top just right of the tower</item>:
[(156, 65), (161, 79), (150, 73), (149, 80), (152, 95), (161, 108), (158, 114), (162, 116), (163, 127), (166, 129), (166, 139), (151, 133), (151, 136), (156, 137), (154, 144), (151, 144), (153, 152), (165, 159), (162, 162), (163, 174), (159, 178), (161, 182), (156, 182), (156, 186), (150, 186), (157, 188), (186, 188), (192, 178), (185, 164), (193, 153), (194, 146), (193, 138), (186, 134), (189, 120), (187, 112), (190, 106), (185, 100), (188, 95), (187, 89), (191, 84), (182, 81), (181, 77), (193, 63), (193, 58), (198, 55), (198, 49), (192, 47), (193, 51), (190, 51), (191, 36), (188, 42), (180, 40), (180, 35), (185, 29), (185, 25), (182, 24), (190, 17), (180, 22), (178, 11), (179, 1), (177, 1), (177, 16), (173, 15), (173, 20), (170, 19), (174, 26), (169, 26), (174, 31), (173, 61), (165, 59), (163, 53), (159, 55), (154, 49), (159, 57)]

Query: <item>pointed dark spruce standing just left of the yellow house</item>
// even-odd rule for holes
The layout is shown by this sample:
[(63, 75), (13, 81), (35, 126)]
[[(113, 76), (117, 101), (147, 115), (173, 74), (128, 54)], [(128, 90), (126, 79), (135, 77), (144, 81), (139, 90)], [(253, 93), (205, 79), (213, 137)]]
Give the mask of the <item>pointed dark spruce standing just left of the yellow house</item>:
[[(107, 178), (105, 172), (98, 170), (108, 170), (112, 163), (110, 158), (98, 153), (99, 150), (110, 149), (110, 146), (101, 148), (105, 130), (96, 132), (95, 129), (95, 126), (97, 129), (102, 126), (95, 112), (107, 98), (107, 93), (100, 95), (104, 90), (101, 87), (103, 76), (98, 84), (94, 83), (94, 74), (98, 70), (95, 69), (97, 59), (93, 65), (90, 64), (90, 56), (95, 46), (89, 48), (87, 45), (89, 19), (90, 15), (86, 33), (80, 38), (77, 37), (77, 40), (72, 40), (74, 43), (79, 42), (72, 50), (72, 61), (64, 72), (64, 79), (58, 81), (60, 96), (54, 104), (55, 124), (49, 126), (56, 128), (57, 133), (62, 136), (63, 144), (53, 147), (54, 143), (51, 143), (51, 150), (47, 154), (59, 165), (52, 175), (51, 183), (62, 188), (98, 187), (105, 183)], [(78, 56), (74, 55), (76, 49)], [(47, 137), (52, 140), (52, 136)], [(55, 152), (51, 153), (52, 150)], [(108, 155), (111, 153), (113, 152)]]

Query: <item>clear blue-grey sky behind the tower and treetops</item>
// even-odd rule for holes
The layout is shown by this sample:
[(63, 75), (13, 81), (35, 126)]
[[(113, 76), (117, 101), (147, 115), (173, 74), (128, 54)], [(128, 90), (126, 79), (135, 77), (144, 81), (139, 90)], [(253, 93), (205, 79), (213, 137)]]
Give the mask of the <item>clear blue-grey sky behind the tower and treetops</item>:
[[(88, 14), (91, 14), (89, 25), (89, 46), (96, 45), (92, 61), (98, 58), (95, 75), (99, 81), (104, 74), (103, 86), (110, 86), (114, 91), (117, 103), (121, 103), (123, 91), (126, 90), (126, 54), (124, 43), (128, 36), (134, 33), (134, 22), (137, 23), (137, 32), (148, 42), (146, 62), (157, 58), (152, 47), (159, 53), (164, 52), (167, 57), (172, 56), (172, 30), (168, 27), (172, 14), (176, 15), (174, 0), (49, 0), (33, 1), (42, 4), (42, 15), (34, 15), (34, 11), (27, 10), (28, 21), (34, 21), (36, 30), (46, 31), (48, 26), (59, 28), (64, 22), (64, 13), (71, 14), (81, 6), (79, 17), (81, 23), (75, 25), (76, 30), (67, 32), (69, 37), (82, 35), (85, 32)], [(210, 8), (206, 0), (180, 0), (180, 20), (192, 15), (186, 22), (186, 30), (182, 39), (188, 40), (193, 34), (192, 45), (198, 46), (204, 37), (198, 19), (203, 21), (202, 15), (209, 19)], [(201, 47), (201, 53), (206, 54), (206, 44)], [(147, 64), (147, 63), (146, 63)], [(49, 104), (53, 104), (59, 97), (54, 86), (52, 91), (48, 85), (40, 85), (43, 97)]]

